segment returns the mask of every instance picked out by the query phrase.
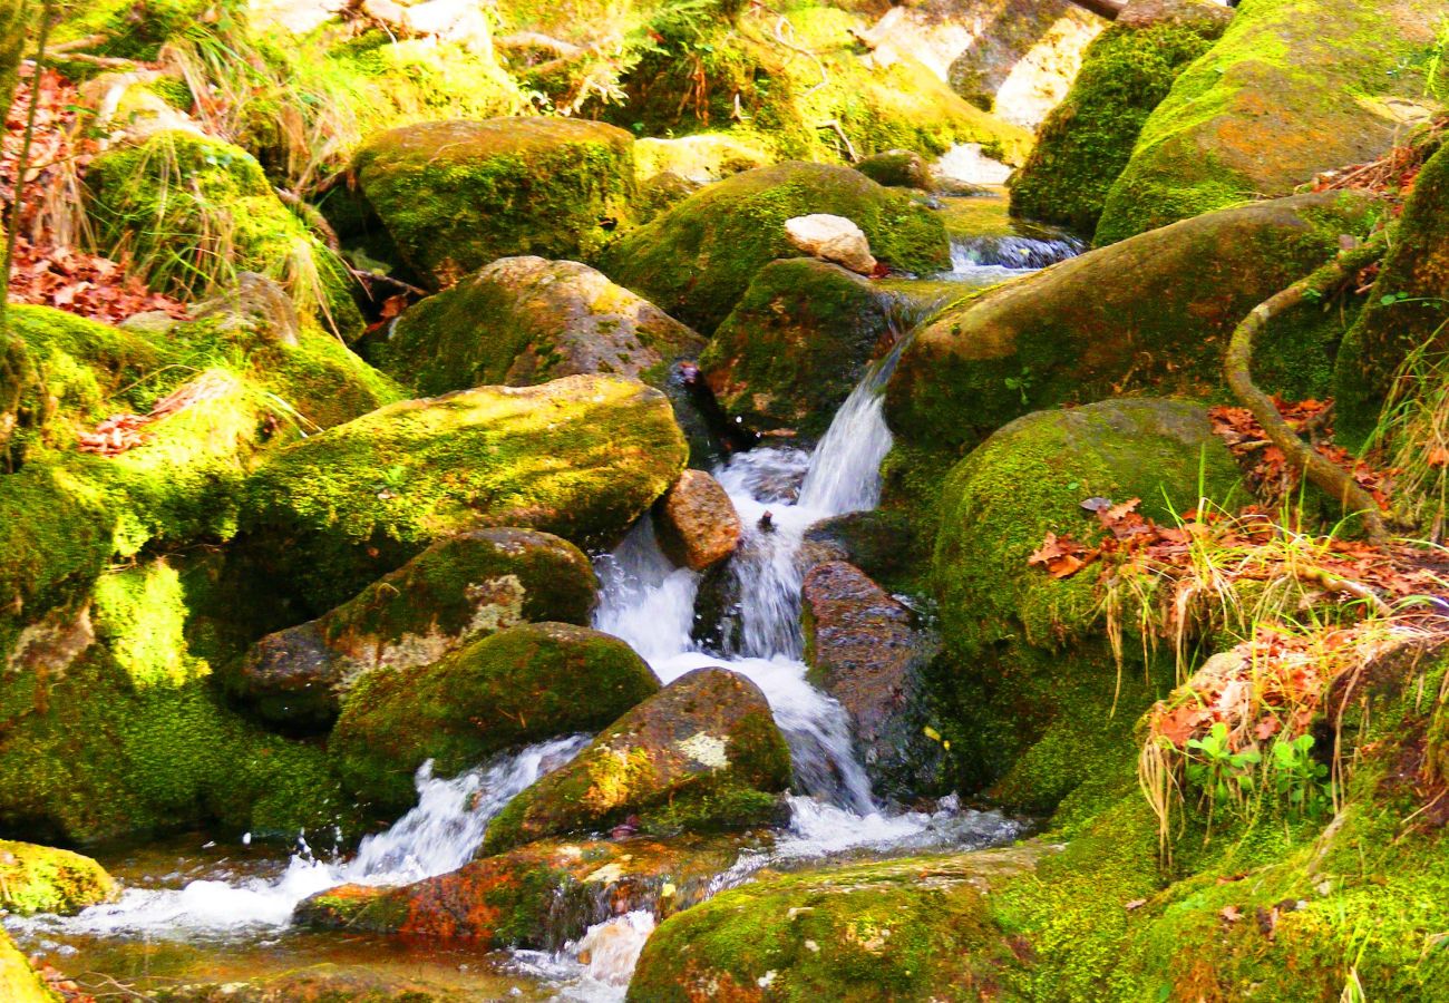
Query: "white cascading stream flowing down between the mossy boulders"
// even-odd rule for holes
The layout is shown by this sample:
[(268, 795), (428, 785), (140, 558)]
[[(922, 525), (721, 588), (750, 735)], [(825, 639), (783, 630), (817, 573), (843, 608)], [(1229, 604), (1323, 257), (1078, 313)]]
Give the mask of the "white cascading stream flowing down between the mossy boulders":
[[(1056, 235), (953, 235), (952, 244), (953, 270), (935, 277), (938, 283), (993, 284), (1081, 249)], [(891, 448), (881, 391), (904, 344), (871, 365), (813, 451), (756, 448), (714, 471), (745, 526), (727, 570), (733, 581), (726, 591), (736, 597), (724, 604), (727, 623), (700, 622), (704, 577), (664, 557), (648, 516), (614, 552), (596, 558), (603, 584), (596, 628), (627, 641), (664, 684), (706, 665), (751, 678), (790, 745), (788, 829), (768, 849), (743, 851), (710, 891), (748, 881), (764, 867), (975, 849), (1023, 833), (1022, 822), (962, 809), (955, 797), (914, 810), (880, 802), (856, 757), (846, 713), (806, 678), (798, 551), (813, 523), (878, 503), (880, 465)], [(762, 528), (767, 513), (769, 525)], [(116, 903), (70, 919), (6, 925), (28, 952), (81, 984), (103, 986), (104, 977), (141, 990), (225, 983), (326, 961), (406, 975), (465, 1000), (622, 1000), (655, 925), (646, 910), (559, 931), (559, 941), (568, 942), (558, 952), (481, 954), (291, 926), (298, 902), (338, 884), (403, 884), (456, 870), (483, 842), (488, 820), (577, 755), (588, 738), (533, 745), (452, 778), (436, 778), (425, 765), (417, 806), (388, 831), (365, 838), (351, 857), (338, 851), (341, 833), (326, 833), (320, 842), (316, 833), (298, 836), (287, 858), (246, 839), (223, 846), (181, 836), (100, 857), (126, 887)], [(83, 973), (104, 977), (87, 981)]]

